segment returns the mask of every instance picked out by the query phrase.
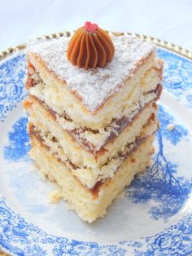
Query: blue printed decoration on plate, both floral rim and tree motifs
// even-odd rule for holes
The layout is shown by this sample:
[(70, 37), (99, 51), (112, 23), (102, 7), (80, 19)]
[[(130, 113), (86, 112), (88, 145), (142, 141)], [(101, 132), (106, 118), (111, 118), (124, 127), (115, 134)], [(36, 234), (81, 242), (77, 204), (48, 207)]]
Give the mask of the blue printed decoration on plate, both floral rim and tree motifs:
[[(164, 49), (158, 49), (159, 56), (164, 59), (164, 88), (182, 99), (188, 108), (192, 108), (192, 62), (180, 55)], [(0, 64), (0, 121), (4, 121), (7, 113), (26, 96), (24, 90), (25, 54), (12, 56)], [(185, 98), (185, 99), (184, 99)], [(164, 157), (163, 137), (176, 145), (188, 131), (182, 126), (176, 126), (172, 133), (167, 125), (172, 117), (159, 108), (161, 129), (157, 135), (159, 151), (155, 163), (145, 177), (139, 176), (126, 192), (128, 200), (135, 203), (153, 199), (157, 204), (151, 207), (151, 218), (163, 218), (164, 221), (181, 209), (191, 192), (192, 183), (183, 177), (176, 177), (177, 166)], [(21, 118), (10, 133), (15, 140), (5, 148), (8, 157), (24, 157), (28, 146), (27, 135), (22, 139), (14, 136), (14, 130), (24, 127), (26, 118)], [(18, 147), (19, 141), (19, 147)], [(14, 148), (20, 152), (15, 155)], [(12, 150), (12, 151), (11, 151)], [(9, 152), (9, 154), (7, 153)], [(161, 173), (159, 178), (158, 173)], [(16, 255), (190, 255), (192, 254), (192, 214), (183, 217), (179, 223), (168, 227), (154, 236), (143, 237), (139, 241), (121, 241), (115, 245), (101, 245), (96, 242), (68, 240), (68, 238), (52, 236), (42, 231), (33, 223), (26, 223), (24, 218), (15, 214), (7, 205), (6, 199), (0, 193), (0, 247)]]

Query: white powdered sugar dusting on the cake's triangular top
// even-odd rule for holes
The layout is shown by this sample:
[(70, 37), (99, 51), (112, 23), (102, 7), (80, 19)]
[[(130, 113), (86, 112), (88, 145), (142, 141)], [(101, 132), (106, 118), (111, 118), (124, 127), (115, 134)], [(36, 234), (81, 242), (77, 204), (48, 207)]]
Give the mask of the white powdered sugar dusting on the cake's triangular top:
[(107, 97), (120, 90), (125, 78), (131, 77), (137, 64), (154, 51), (151, 42), (144, 42), (132, 36), (112, 36), (116, 51), (111, 63), (105, 68), (85, 71), (77, 68), (67, 59), (70, 38), (60, 38), (36, 46), (28, 46), (30, 52), (44, 60), (47, 68), (66, 82), (68, 89), (81, 98), (85, 108), (94, 113)]

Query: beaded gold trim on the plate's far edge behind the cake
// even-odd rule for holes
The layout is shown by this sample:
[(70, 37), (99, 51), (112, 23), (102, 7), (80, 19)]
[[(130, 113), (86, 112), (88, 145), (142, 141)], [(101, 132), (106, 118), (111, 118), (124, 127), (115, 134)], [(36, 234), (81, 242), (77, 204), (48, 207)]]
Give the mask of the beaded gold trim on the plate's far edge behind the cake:
[[(120, 36), (123, 35), (124, 33), (116, 33), (116, 32), (112, 32), (113, 34), (115, 34), (116, 36)], [(61, 32), (61, 33), (51, 33), (49, 35), (44, 35), (42, 37), (38, 37), (36, 39), (47, 39), (50, 40), (52, 38), (60, 38), (60, 37), (69, 37), (72, 34), (72, 32), (70, 31), (66, 31), (66, 32)], [(140, 35), (138, 33), (126, 33), (128, 35), (133, 35), (137, 38), (141, 38), (144, 39), (146, 41), (150, 41), (155, 43), (156, 46), (160, 46), (163, 47), (165, 49), (168, 49), (170, 51), (174, 51), (179, 55), (183, 55), (185, 58), (188, 58), (190, 60), (192, 60), (192, 51), (189, 51), (185, 48), (182, 48), (181, 46), (177, 46), (175, 44), (173, 44), (172, 42), (166, 42), (164, 40), (160, 40), (158, 38), (153, 38), (150, 36), (145, 36), (145, 35)], [(18, 52), (23, 50), (24, 48), (26, 48), (27, 43), (23, 43), (20, 44), (19, 46), (15, 46), (15, 47), (10, 47), (8, 48), (6, 51), (0, 51), (0, 60), (5, 59), (8, 55), (11, 55), (12, 53)]]

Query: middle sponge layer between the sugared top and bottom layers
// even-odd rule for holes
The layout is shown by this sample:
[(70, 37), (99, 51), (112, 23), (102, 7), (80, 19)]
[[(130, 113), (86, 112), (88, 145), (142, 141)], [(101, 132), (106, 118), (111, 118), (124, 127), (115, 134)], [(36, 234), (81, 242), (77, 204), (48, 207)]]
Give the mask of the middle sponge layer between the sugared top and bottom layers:
[[(29, 113), (29, 121), (33, 123), (37, 130), (42, 134), (50, 132), (54, 136), (61, 147), (64, 154), (71, 159), (76, 166), (96, 167), (105, 164), (111, 157), (116, 155), (116, 152), (122, 152), (127, 143), (132, 142), (133, 139), (140, 135), (142, 127), (146, 125), (151, 117), (155, 117), (156, 106), (151, 103), (143, 108), (142, 112), (125, 127), (121, 134), (112, 139), (111, 142), (105, 144), (98, 152), (91, 152), (87, 148), (83, 148), (81, 143), (76, 141), (68, 133), (68, 130), (63, 130), (55, 117), (44, 108), (38, 101), (31, 101), (29, 106), (26, 107)], [(158, 121), (155, 120), (157, 123)], [(99, 139), (99, 137), (98, 137)], [(103, 137), (101, 136), (101, 140)], [(89, 143), (89, 141), (87, 142)], [(100, 142), (101, 144), (101, 142)]]

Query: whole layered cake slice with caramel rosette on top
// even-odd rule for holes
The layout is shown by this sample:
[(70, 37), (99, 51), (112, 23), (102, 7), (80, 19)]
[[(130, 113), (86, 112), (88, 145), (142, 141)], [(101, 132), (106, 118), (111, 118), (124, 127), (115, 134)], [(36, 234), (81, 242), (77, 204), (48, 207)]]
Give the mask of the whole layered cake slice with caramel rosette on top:
[(29, 46), (27, 60), (30, 156), (91, 223), (151, 164), (162, 60), (150, 42), (89, 22)]

